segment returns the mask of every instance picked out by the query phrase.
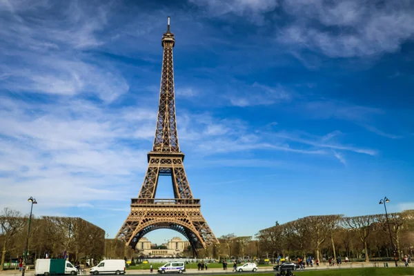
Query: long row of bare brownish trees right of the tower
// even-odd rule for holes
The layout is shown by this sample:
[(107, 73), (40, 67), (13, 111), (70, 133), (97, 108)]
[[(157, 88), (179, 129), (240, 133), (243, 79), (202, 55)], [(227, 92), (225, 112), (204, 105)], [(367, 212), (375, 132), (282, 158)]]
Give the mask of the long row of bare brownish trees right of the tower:
[(310, 216), (286, 224), (260, 230), (257, 234), (262, 253), (272, 257), (313, 255), (324, 256), (390, 257), (393, 245), (398, 255), (411, 253), (414, 247), (414, 210), (388, 215), (390, 233), (385, 215), (344, 217), (342, 215)]

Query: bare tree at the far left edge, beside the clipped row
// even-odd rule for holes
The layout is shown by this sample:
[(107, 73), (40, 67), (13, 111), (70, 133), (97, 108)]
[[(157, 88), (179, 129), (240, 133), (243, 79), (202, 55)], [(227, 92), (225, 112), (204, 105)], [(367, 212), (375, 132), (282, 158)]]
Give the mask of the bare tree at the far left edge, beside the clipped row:
[(1, 236), (3, 237), (0, 270), (3, 270), (8, 244), (12, 242), (12, 239), (21, 232), (25, 224), (26, 219), (17, 210), (4, 208), (4, 210), (0, 213), (0, 230)]

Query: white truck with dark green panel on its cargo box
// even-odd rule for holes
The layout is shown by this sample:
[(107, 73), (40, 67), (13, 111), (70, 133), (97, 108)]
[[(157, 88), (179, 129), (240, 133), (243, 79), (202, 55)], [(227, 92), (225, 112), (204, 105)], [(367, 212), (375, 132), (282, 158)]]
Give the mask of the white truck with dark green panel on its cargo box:
[(66, 259), (37, 259), (34, 275), (77, 275), (77, 268)]

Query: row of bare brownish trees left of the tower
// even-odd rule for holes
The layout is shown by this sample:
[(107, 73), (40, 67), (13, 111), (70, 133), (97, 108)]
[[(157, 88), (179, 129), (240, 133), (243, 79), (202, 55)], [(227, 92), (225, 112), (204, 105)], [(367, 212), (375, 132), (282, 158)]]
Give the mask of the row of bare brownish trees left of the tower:
[[(26, 250), (28, 216), (5, 208), (0, 213), (1, 262), (21, 257)], [(70, 260), (86, 257), (101, 259), (104, 255), (105, 231), (79, 217), (33, 217), (30, 226), (28, 255), (30, 259), (61, 258), (66, 251)]]

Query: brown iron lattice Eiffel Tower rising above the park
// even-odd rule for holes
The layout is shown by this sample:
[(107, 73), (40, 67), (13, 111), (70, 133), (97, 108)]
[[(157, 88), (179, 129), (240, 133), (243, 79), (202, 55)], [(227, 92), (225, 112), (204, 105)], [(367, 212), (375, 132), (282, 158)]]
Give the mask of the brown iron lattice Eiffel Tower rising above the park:
[[(197, 256), (197, 249), (218, 244), (219, 241), (201, 215), (200, 199), (195, 199), (191, 193), (184, 170), (184, 153), (179, 150), (172, 67), (175, 38), (170, 32), (170, 17), (161, 45), (164, 55), (154, 145), (148, 152), (144, 183), (138, 198), (131, 199), (131, 212), (117, 233), (117, 238), (135, 249), (144, 235), (153, 230), (168, 228), (184, 235)], [(159, 175), (171, 176), (174, 199), (155, 198)]]

